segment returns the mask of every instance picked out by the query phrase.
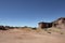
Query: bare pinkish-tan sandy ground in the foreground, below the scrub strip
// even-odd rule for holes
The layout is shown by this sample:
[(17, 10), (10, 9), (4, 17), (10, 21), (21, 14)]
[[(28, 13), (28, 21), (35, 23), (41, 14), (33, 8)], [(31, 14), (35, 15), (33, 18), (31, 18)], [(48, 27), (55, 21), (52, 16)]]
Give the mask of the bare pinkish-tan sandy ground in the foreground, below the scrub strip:
[(39, 34), (23, 30), (0, 30), (0, 43), (65, 43), (65, 35)]

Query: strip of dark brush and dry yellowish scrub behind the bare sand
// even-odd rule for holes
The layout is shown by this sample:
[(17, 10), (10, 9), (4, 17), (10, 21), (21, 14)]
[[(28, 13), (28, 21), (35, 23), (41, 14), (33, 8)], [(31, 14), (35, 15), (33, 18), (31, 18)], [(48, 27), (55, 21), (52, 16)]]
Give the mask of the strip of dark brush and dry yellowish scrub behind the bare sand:
[(10, 27), (10, 26), (0, 26), (0, 30), (9, 30), (9, 29), (22, 29), (22, 30), (25, 30), (25, 31), (36, 31), (36, 32), (41, 32), (41, 33), (44, 33), (44, 32), (48, 32), (48, 33), (52, 33), (52, 32), (56, 32), (56, 33), (60, 33), (60, 34), (64, 34), (64, 32), (62, 32), (61, 29), (58, 28), (44, 28), (44, 29), (40, 29), (40, 28), (32, 28), (32, 27), (27, 27), (27, 26), (24, 26), (24, 27)]

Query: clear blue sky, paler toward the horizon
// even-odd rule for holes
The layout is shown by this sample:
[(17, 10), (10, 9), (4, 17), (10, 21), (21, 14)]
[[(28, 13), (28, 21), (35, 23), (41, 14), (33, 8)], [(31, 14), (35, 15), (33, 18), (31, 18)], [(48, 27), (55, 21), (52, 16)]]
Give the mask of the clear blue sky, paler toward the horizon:
[(65, 17), (65, 0), (0, 0), (0, 25), (37, 27)]

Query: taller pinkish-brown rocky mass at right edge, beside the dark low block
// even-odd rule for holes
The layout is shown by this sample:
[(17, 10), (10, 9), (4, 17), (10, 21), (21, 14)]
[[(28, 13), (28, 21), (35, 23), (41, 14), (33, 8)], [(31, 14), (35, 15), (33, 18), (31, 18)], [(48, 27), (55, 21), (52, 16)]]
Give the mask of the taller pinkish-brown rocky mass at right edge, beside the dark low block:
[(64, 29), (65, 28), (65, 17), (61, 17), (53, 22), (53, 27)]

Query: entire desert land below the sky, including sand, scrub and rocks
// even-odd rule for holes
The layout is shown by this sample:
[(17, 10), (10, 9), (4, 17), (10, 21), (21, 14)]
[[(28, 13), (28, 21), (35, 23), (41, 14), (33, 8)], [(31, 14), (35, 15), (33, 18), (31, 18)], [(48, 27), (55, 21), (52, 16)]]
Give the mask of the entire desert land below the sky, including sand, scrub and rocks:
[(65, 43), (65, 28), (60, 26), (64, 24), (65, 18), (58, 18), (52, 24), (40, 23), (37, 28), (0, 26), (0, 43)]

